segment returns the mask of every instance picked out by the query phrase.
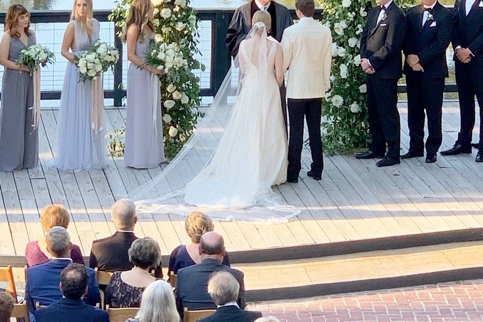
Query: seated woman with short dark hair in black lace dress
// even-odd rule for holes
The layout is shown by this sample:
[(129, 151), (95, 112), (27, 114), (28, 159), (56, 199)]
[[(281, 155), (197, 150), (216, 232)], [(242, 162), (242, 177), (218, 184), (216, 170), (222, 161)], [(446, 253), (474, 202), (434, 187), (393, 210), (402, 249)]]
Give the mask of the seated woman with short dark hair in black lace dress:
[(144, 237), (132, 242), (128, 251), (129, 261), (134, 267), (129, 271), (117, 271), (106, 288), (106, 304), (109, 307), (139, 307), (144, 289), (156, 280), (149, 268), (157, 267), (161, 251), (157, 242)]

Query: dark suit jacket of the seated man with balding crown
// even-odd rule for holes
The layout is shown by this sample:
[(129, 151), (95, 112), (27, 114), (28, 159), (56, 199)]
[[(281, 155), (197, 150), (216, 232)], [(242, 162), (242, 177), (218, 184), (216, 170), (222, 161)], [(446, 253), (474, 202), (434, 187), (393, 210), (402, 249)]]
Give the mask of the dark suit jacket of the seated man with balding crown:
[(240, 284), (238, 306), (245, 308), (244, 274), (234, 268), (222, 265), (216, 259), (205, 259), (201, 264), (188, 266), (178, 271), (176, 280), (176, 299), (180, 314), (184, 307), (188, 309), (216, 308), (208, 294), (208, 280), (211, 273), (224, 271), (231, 273)]

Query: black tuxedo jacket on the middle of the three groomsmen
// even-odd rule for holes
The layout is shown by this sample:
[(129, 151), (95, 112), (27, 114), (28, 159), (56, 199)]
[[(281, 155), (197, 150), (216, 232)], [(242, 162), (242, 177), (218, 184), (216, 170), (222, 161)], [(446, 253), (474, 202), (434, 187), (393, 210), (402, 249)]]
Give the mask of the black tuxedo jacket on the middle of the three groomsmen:
[[(424, 7), (419, 5), (411, 8), (406, 16), (404, 54), (406, 57), (410, 54), (418, 55), (424, 68), (423, 76), (448, 77), (446, 49), (453, 35), (453, 12), (436, 2), (432, 12), (433, 20), (428, 19), (424, 26), (423, 15)], [(405, 74), (414, 72), (406, 62), (403, 71)]]

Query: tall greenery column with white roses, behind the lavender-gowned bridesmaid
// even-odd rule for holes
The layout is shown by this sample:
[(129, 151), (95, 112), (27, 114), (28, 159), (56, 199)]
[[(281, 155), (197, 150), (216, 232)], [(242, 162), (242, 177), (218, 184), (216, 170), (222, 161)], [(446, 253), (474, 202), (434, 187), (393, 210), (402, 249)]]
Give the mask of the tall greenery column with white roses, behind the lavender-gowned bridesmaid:
[[(131, 1), (118, 0), (109, 16), (121, 29), (124, 29)], [(189, 139), (201, 116), (197, 110), (201, 103), (200, 79), (192, 72), (200, 68), (204, 70), (204, 66), (193, 58), (199, 53), (196, 40), (199, 21), (190, 7), (190, 0), (151, 0), (151, 3), (154, 7), (152, 22), (156, 41), (177, 44), (188, 62), (176, 72), (160, 77), (165, 155), (172, 159)], [(119, 136), (111, 135), (111, 154), (122, 155), (123, 145), (115, 141), (116, 137)]]

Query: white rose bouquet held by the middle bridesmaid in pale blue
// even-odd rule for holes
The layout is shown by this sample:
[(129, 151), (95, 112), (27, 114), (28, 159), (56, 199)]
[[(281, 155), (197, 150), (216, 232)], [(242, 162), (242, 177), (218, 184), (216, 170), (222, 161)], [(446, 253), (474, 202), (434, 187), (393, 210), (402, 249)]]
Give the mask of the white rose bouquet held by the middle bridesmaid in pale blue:
[(92, 81), (109, 68), (113, 69), (119, 60), (119, 51), (111, 45), (100, 40), (93, 48), (82, 53), (77, 58), (77, 67), (81, 76), (79, 82)]

